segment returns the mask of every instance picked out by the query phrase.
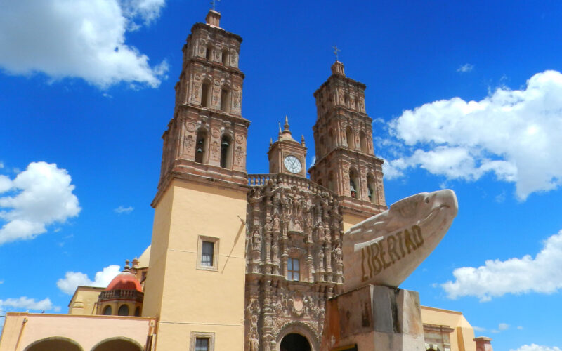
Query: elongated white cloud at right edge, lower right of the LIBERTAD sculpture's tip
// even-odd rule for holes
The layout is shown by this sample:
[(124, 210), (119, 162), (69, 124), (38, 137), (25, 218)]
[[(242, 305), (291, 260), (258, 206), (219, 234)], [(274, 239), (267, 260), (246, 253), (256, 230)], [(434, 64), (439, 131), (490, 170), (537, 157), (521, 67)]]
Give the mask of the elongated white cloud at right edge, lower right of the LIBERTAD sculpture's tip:
[[(562, 288), (562, 230), (544, 241), (535, 258), (486, 260), (478, 268), (462, 267), (452, 272), (455, 282), (441, 284), (447, 296), (476, 296), (482, 302), (506, 293), (554, 293)], [(501, 324), (500, 327), (501, 328)]]

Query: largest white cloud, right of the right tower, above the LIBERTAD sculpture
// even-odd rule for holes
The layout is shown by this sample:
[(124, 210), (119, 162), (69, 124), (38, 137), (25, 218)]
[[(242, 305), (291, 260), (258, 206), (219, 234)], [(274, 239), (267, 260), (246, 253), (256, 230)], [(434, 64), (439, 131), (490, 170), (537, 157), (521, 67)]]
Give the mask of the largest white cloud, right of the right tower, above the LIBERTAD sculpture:
[(413, 167), (469, 181), (494, 173), (525, 200), (562, 184), (562, 74), (537, 73), (520, 90), (500, 87), (480, 101), (452, 98), (406, 110), (389, 132), (405, 148), (384, 164), (387, 178)]

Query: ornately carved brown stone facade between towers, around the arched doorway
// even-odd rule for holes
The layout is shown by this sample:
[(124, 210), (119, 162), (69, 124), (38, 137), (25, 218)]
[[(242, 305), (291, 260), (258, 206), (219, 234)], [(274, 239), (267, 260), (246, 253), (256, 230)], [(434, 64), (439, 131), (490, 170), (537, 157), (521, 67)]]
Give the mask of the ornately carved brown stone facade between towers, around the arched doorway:
[[(249, 191), (247, 279), (261, 282), (261, 286), (259, 298), (249, 291), (246, 295), (250, 310), (256, 310), (253, 305), (258, 301), (260, 307), (257, 314), (252, 314), (253, 319), (247, 319), (246, 351), (252, 350), (252, 343), (257, 343), (261, 351), (275, 350), (275, 340), (289, 325), (305, 328), (313, 338), (311, 342), (318, 345), (326, 300), (333, 296), (334, 289), (343, 289), (344, 276), (338, 263), (341, 254), (336, 254), (341, 249), (336, 244), (332, 249), (332, 244), (325, 241), (328, 237), (341, 243), (339, 211), (337, 201), (327, 192), (301, 186), (289, 188), (273, 178)], [(336, 230), (332, 232), (326, 220), (336, 221)], [(300, 282), (287, 280), (289, 259), (298, 260)]]

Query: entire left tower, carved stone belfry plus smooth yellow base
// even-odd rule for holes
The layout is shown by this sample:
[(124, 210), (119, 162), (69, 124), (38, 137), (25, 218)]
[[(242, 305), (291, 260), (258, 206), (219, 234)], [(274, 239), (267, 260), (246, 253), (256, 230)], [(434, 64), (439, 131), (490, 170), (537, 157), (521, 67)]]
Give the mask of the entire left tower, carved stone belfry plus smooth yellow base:
[(242, 38), (219, 27), (220, 18), (211, 10), (192, 26), (162, 136), (143, 305), (143, 315), (158, 319), (157, 350), (244, 348), (249, 121), (241, 114)]

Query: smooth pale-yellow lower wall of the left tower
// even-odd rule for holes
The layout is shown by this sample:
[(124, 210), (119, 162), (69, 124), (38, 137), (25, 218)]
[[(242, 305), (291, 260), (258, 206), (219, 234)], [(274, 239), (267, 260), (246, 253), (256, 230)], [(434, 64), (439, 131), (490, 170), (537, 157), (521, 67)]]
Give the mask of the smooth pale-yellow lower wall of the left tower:
[[(159, 317), (158, 350), (183, 350), (191, 331), (243, 349), (246, 206), (242, 187), (177, 179), (157, 204), (143, 315)], [(197, 269), (200, 235), (219, 239), (217, 270)]]

